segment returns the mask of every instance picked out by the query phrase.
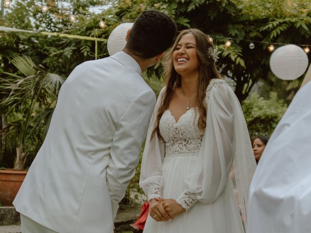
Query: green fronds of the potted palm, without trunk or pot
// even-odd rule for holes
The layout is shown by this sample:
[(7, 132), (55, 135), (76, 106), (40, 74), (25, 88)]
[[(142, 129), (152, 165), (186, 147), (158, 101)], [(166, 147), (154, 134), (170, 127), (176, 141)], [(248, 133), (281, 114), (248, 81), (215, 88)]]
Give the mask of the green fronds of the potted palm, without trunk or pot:
[(16, 138), (27, 152), (42, 143), (64, 78), (35, 66), (30, 57), (11, 58), (23, 75), (5, 72), (6, 77), (0, 78), (0, 111), (13, 121), (0, 133), (4, 138)]

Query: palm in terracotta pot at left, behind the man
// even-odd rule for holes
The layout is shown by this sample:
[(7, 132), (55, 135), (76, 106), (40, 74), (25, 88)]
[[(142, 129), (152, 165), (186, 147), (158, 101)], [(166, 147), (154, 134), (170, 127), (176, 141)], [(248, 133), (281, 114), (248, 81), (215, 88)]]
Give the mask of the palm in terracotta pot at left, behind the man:
[(0, 203), (12, 205), (27, 173), (25, 162), (31, 151), (42, 144), (48, 130), (57, 94), (64, 79), (36, 66), (27, 56), (12, 55), (17, 73), (3, 72), (0, 77), (0, 112), (5, 125), (3, 139), (14, 138), (14, 167), (0, 170)]

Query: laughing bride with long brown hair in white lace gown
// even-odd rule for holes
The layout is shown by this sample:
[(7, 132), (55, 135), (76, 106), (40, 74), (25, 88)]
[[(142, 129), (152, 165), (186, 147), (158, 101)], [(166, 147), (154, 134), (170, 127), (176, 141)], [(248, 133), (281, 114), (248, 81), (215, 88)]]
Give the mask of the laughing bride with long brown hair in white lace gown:
[(155, 105), (140, 173), (150, 203), (144, 233), (247, 228), (256, 162), (239, 100), (217, 71), (217, 55), (197, 29), (182, 31), (165, 55), (166, 87)]

